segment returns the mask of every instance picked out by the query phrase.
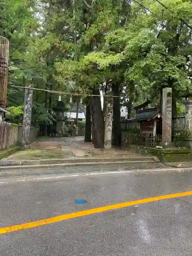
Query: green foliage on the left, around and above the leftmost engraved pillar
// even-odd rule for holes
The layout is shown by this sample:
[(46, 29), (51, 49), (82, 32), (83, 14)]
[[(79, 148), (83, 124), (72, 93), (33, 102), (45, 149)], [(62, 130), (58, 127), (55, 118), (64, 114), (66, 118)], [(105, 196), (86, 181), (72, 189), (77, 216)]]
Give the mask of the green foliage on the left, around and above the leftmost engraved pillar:
[[(67, 86), (60, 86), (56, 80), (54, 62), (62, 59), (73, 44), (65, 42), (64, 35), (58, 37), (50, 27), (55, 14), (48, 13), (49, 5), (36, 0), (4, 0), (3, 4), (0, 4), (0, 31), (10, 41), (8, 107), (17, 108), (24, 103), (25, 91), (10, 87), (12, 85), (25, 87), (33, 83), (41, 89), (67, 90)], [(56, 19), (54, 24), (56, 26)], [(33, 125), (53, 124), (55, 119), (50, 113), (57, 99), (58, 95), (34, 91)], [(62, 99), (67, 105), (68, 98)], [(7, 120), (20, 123), (22, 114), (19, 118), (7, 117)]]

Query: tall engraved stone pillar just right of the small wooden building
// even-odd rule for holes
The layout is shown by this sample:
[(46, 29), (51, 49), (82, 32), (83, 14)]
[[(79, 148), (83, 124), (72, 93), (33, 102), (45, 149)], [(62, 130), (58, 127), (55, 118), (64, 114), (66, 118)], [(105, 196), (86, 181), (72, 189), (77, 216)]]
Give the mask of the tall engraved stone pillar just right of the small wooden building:
[(162, 98), (162, 142), (172, 142), (172, 88), (163, 89)]

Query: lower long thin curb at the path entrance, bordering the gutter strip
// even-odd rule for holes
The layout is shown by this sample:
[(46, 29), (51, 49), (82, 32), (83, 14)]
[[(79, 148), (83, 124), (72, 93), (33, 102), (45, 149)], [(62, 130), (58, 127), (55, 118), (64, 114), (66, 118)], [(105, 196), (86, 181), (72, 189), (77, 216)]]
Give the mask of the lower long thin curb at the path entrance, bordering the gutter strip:
[(134, 163), (157, 163), (155, 160), (142, 160), (142, 161), (116, 161), (116, 162), (76, 162), (76, 163), (57, 163), (57, 164), (33, 164), (33, 165), (7, 165), (7, 166), (0, 166), (1, 170), (7, 170), (7, 169), (26, 169), (26, 168), (32, 168), (32, 169), (39, 169), (39, 168), (45, 168), (45, 167), (69, 167), (69, 166), (93, 166), (93, 165), (115, 165), (115, 164), (134, 164)]

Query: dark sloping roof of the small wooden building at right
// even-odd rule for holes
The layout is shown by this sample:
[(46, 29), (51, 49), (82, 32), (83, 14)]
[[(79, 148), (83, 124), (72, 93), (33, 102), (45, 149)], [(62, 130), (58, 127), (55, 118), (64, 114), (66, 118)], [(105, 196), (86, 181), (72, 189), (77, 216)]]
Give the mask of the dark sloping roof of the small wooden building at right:
[(157, 117), (158, 115), (161, 116), (160, 111), (158, 109), (146, 109), (146, 110), (140, 111), (129, 120), (130, 121), (151, 120)]

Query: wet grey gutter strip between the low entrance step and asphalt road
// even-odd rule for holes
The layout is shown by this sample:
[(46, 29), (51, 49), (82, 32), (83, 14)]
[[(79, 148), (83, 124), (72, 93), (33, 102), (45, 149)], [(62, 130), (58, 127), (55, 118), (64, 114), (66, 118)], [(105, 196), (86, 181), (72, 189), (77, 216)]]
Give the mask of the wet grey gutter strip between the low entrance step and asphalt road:
[[(62, 176), (62, 175), (81, 175), (81, 174), (90, 174), (93, 173), (94, 175), (96, 173), (123, 173), (123, 172), (135, 172), (139, 170), (144, 170), (145, 172), (150, 172), (153, 170), (157, 171), (162, 170), (162, 168), (165, 168), (162, 163), (160, 162), (142, 162), (142, 163), (121, 163), (121, 164), (103, 164), (101, 163), (96, 165), (77, 165), (77, 166), (53, 166), (53, 167), (28, 167), (26, 168), (25, 165), (15, 166), (15, 168), (11, 168), (11, 166), (1, 166), (0, 167), (0, 179), (5, 178), (4, 181), (7, 182), (7, 178), (9, 177), (22, 177), (22, 180), (30, 179), (31, 177), (36, 176), (37, 180), (39, 177), (46, 177), (49, 178), (55, 177), (55, 176)], [(170, 168), (171, 169), (171, 168)], [(167, 170), (167, 168), (166, 168)], [(173, 168), (172, 168), (173, 170)], [(1, 181), (0, 181), (1, 183)]]

